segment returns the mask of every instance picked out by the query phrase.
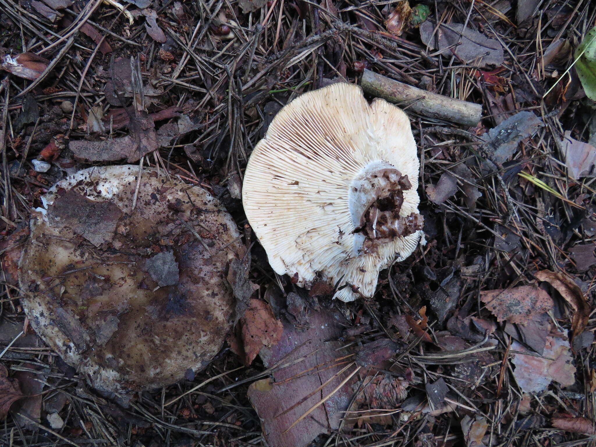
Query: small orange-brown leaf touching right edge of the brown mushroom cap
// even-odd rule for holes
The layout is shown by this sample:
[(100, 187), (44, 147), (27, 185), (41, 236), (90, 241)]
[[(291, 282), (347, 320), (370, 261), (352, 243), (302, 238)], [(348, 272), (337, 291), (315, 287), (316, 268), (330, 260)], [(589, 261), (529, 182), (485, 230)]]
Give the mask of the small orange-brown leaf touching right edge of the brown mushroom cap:
[(263, 346), (272, 347), (280, 341), (284, 327), (275, 319), (271, 307), (257, 299), (250, 300), (250, 306), (240, 319), (244, 343), (244, 364), (250, 365)]

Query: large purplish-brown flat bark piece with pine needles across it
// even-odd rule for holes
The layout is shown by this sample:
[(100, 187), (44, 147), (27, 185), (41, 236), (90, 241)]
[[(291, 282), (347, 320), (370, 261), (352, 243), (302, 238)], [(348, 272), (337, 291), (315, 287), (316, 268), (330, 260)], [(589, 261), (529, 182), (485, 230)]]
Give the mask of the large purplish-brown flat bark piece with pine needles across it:
[[(273, 373), (272, 389), (262, 392), (256, 389), (257, 386), (249, 387), (250, 402), (259, 415), (263, 435), (271, 447), (304, 447), (318, 434), (338, 430), (344, 417), (343, 411), (347, 409), (353, 395), (352, 384), (346, 383), (308, 417), (285, 432), (307, 409), (321, 400), (321, 393), (323, 396), (330, 393), (352, 371), (345, 371), (323, 387), (321, 392), (284, 413), (351, 362), (351, 358), (344, 358), (349, 351), (339, 341), (344, 328), (340, 322), (347, 324), (343, 316), (337, 311), (323, 309), (311, 312), (309, 319), (311, 325), (308, 330), (294, 328), (284, 320), (280, 342), (271, 349), (263, 347), (261, 350), (259, 355), (266, 368), (271, 368), (282, 359), (284, 364), (289, 364)], [(315, 350), (316, 354), (308, 355)], [(305, 358), (302, 361), (296, 362), (303, 356)], [(322, 365), (318, 371), (317, 365)], [(304, 371), (310, 374), (301, 374)]]

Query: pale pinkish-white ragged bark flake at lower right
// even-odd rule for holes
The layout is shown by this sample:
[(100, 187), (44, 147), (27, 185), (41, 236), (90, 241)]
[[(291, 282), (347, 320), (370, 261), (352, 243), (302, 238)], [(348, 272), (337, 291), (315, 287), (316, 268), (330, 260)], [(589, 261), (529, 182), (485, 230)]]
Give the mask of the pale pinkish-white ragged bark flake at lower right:
[(523, 344), (511, 343), (511, 350), (522, 353), (513, 354), (513, 364), (516, 366), (513, 376), (524, 393), (538, 393), (547, 389), (551, 381), (557, 381), (562, 386), (575, 383), (575, 367), (573, 358), (569, 355), (569, 342), (560, 337), (547, 337), (544, 357), (527, 355), (530, 353)]

